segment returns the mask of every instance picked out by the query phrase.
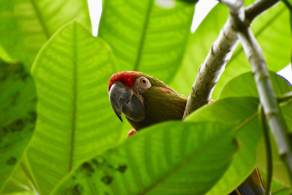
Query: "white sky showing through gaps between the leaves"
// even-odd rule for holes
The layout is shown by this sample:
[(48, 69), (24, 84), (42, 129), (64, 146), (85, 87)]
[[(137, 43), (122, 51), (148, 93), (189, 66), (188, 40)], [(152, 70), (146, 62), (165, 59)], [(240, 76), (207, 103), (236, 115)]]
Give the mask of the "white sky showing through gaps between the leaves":
[[(156, 0), (158, 4), (164, 4), (166, 6), (172, 6), (175, 4), (174, 0)], [(216, 0), (201, 0), (196, 5), (191, 32), (194, 32), (201, 21), (206, 17), (208, 12), (218, 3)], [(102, 0), (88, 0), (89, 14), (92, 22), (92, 34), (97, 36), (98, 24), (102, 11)], [(279, 70), (277, 73), (282, 77), (286, 78), (290, 84), (292, 84), (292, 67), (291, 63)]]

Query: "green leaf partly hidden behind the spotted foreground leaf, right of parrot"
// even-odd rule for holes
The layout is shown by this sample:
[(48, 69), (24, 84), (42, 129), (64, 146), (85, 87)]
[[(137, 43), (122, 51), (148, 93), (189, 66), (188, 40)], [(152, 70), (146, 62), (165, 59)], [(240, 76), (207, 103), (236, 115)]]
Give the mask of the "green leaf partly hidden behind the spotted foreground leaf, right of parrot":
[(239, 150), (219, 182), (207, 194), (229, 194), (253, 171), (256, 146), (262, 137), (258, 123), (258, 99), (252, 97), (226, 98), (194, 111), (186, 121), (212, 121), (236, 124)]

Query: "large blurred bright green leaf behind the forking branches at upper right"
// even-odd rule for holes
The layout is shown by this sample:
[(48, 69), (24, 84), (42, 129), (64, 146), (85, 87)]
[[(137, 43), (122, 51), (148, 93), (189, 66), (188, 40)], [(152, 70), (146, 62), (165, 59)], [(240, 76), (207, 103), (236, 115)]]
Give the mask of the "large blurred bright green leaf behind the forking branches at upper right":
[[(226, 5), (218, 4), (207, 15), (196, 32), (190, 37), (187, 50), (177, 75), (170, 86), (182, 94), (190, 94), (199, 66), (204, 62), (211, 44), (217, 38), (228, 15)], [(276, 4), (258, 16), (252, 30), (262, 46), (270, 70), (278, 71), (290, 61), (291, 36), (289, 12), (282, 3)], [(212, 98), (218, 99), (225, 84), (232, 78), (250, 71), (250, 64), (238, 46), (213, 91)]]

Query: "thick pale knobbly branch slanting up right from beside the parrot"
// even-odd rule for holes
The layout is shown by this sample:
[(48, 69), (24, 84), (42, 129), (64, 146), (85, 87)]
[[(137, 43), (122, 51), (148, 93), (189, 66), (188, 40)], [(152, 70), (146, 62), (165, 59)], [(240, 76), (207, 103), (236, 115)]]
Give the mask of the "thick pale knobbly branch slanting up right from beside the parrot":
[[(270, 8), (278, 1), (279, 0), (259, 0), (248, 6), (245, 9), (246, 18), (244, 23), (249, 25), (257, 15)], [(230, 2), (232, 2), (232, 0)], [(243, 9), (241, 11), (243, 12)], [(232, 11), (232, 14), (237, 15), (236, 11), (235, 13)], [(242, 16), (239, 14), (237, 17), (241, 18)], [(231, 18), (231, 16), (228, 17), (219, 36), (212, 44), (204, 63), (198, 70), (198, 75), (192, 86), (190, 96), (188, 97), (183, 120), (197, 108), (211, 101), (211, 94), (214, 87), (225, 70), (225, 65), (230, 61), (234, 49), (239, 44), (237, 35), (232, 28)]]

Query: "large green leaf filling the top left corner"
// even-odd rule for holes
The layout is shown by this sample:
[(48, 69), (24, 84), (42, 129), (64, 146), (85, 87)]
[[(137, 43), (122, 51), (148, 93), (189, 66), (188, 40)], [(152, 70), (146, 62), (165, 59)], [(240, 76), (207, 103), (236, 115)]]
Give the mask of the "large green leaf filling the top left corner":
[(0, 45), (29, 70), (41, 46), (73, 18), (91, 30), (86, 0), (1, 0)]

